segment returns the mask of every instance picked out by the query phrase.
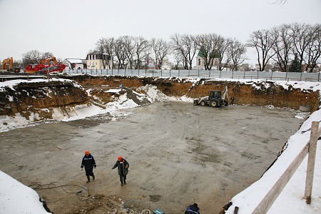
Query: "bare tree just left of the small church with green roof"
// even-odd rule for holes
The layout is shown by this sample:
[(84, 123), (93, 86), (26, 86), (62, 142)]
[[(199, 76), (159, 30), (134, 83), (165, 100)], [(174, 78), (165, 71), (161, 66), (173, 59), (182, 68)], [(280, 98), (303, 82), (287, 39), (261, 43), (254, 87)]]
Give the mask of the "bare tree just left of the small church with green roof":
[(183, 59), (185, 69), (192, 69), (193, 59), (198, 50), (199, 43), (195, 36), (188, 34), (175, 34), (170, 36), (170, 47), (173, 53), (178, 54), (178, 58)]

